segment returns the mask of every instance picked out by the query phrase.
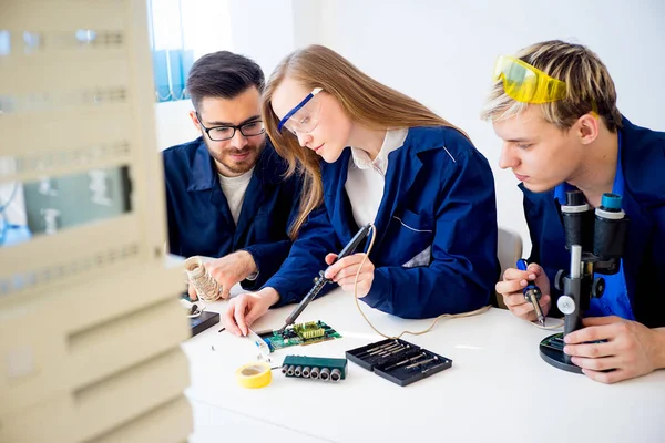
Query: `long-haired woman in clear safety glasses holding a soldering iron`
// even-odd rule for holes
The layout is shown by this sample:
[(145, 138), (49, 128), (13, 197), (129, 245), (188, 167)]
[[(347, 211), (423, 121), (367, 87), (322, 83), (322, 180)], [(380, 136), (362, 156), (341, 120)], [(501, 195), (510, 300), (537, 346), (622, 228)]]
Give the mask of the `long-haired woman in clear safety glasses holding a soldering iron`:
[[(494, 182), (461, 130), (320, 45), (276, 68), (262, 115), (306, 186), (289, 257), (258, 292), (229, 301), (232, 332), (246, 334), (269, 307), (299, 301), (369, 223), (376, 241), (358, 279), (367, 305), (430, 318), (489, 303), (499, 277)], [(364, 257), (335, 262), (326, 277), (352, 292)]]

